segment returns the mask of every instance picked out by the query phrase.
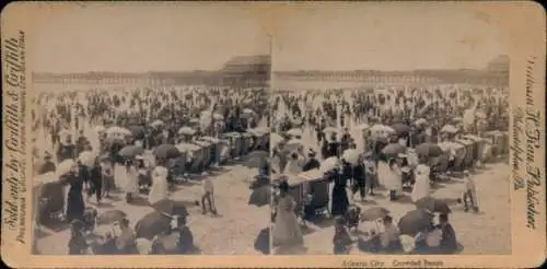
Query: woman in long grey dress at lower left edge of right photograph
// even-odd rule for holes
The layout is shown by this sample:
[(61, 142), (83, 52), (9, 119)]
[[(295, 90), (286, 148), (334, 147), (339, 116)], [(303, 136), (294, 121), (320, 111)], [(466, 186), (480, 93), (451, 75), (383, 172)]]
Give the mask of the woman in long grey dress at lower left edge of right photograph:
[(289, 184), (281, 182), (279, 185), (279, 200), (277, 203), (276, 223), (274, 226), (274, 246), (288, 248), (303, 246), (304, 238), (294, 210), (296, 202), (289, 195)]

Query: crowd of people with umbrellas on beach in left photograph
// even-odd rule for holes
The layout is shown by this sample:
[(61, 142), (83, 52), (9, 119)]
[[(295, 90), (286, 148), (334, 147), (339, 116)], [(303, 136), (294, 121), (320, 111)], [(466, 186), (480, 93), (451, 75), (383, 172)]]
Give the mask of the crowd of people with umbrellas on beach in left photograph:
[[(156, 204), (170, 200), (170, 190), (178, 180), (206, 175), (208, 161), (210, 166), (222, 162), (221, 148), (213, 148), (210, 160), (196, 168), (193, 163), (205, 156), (177, 145), (212, 144), (223, 133), (265, 126), (267, 109), (261, 108), (268, 104), (264, 96), (265, 89), (211, 86), (40, 93), (32, 110), (35, 186), (40, 187), (36, 222), (60, 211), (60, 219), (71, 224), (69, 254), (88, 253), (84, 234), (94, 225), (104, 199), (121, 191), (131, 204), (144, 195), (158, 209)], [(232, 142), (223, 149), (230, 155), (234, 147)], [(46, 189), (51, 182), (61, 187)], [(217, 214), (213, 196), (213, 184), (206, 176), (201, 199), (196, 201), (203, 214)], [(103, 238), (101, 250), (94, 253), (189, 253), (193, 237), (186, 214), (170, 218), (177, 220), (176, 225), (152, 242), (149, 238), (148, 247), (141, 246), (147, 245), (146, 239), (137, 238), (139, 232), (132, 231), (127, 218), (117, 218), (118, 232)], [(165, 246), (168, 236), (176, 237), (174, 246)]]

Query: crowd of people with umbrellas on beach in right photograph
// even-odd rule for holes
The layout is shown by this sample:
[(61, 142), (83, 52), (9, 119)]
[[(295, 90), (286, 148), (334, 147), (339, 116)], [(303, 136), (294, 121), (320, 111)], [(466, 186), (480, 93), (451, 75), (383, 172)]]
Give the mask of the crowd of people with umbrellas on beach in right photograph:
[[(449, 206), (463, 203), (466, 212), (479, 211), (472, 174), (488, 161), (484, 156), (494, 147), (485, 133), (508, 130), (508, 89), (455, 84), (280, 91), (274, 100), (271, 131), (278, 139), (271, 142), (277, 164), (272, 169), (280, 174), (274, 244), (279, 253), (305, 245), (298, 219), (305, 223), (316, 217), (306, 208), (324, 182), (331, 186), (327, 196), (336, 226), (335, 254), (347, 254), (354, 243), (363, 252), (457, 252)], [(484, 138), (485, 147), (464, 165), (457, 162), (462, 153), (455, 144), (467, 136)], [(290, 186), (291, 178), (313, 169), (321, 172), (315, 187)], [(465, 185), (461, 196), (444, 200), (430, 196), (434, 182), (456, 174)], [(304, 190), (289, 191), (299, 187)], [(417, 209), (395, 224), (388, 210), (354, 203), (358, 194), (365, 203), (383, 189), (388, 201), (410, 192)], [(381, 213), (365, 217), (375, 211)], [(364, 235), (356, 239), (347, 230), (359, 222), (369, 224), (361, 225)]]

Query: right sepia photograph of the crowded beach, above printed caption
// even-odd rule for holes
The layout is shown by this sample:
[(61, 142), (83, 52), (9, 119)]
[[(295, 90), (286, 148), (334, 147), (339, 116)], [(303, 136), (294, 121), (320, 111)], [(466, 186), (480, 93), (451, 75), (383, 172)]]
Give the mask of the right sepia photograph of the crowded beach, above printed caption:
[(272, 42), (277, 255), (511, 254), (510, 59), (456, 5), (302, 5)]

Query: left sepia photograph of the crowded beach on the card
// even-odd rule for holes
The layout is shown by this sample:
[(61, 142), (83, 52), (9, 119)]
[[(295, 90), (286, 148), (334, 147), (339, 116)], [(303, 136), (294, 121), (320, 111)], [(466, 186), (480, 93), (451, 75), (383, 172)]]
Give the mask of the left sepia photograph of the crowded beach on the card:
[(28, 48), (33, 254), (268, 255), (267, 33), (225, 4), (68, 7)]

